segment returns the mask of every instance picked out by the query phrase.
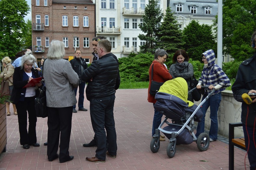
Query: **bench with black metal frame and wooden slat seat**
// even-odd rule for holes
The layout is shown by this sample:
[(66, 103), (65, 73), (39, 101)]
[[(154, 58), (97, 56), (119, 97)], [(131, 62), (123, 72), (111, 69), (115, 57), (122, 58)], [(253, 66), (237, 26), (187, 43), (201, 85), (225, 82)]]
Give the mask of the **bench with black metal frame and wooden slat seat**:
[(234, 128), (242, 126), (242, 123), (230, 123), (229, 124), (229, 170), (234, 170), (234, 146), (241, 148), (246, 151), (245, 139), (234, 138)]

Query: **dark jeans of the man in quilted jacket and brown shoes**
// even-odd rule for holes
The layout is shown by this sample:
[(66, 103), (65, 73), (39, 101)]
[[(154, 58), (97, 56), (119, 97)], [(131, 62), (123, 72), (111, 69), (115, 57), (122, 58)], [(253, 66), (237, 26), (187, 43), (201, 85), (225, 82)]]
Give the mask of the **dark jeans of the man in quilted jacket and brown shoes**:
[(108, 152), (111, 155), (117, 154), (117, 134), (113, 113), (114, 102), (115, 94), (90, 100), (90, 115), (97, 143), (96, 157), (100, 160), (106, 159), (105, 129), (108, 138)]

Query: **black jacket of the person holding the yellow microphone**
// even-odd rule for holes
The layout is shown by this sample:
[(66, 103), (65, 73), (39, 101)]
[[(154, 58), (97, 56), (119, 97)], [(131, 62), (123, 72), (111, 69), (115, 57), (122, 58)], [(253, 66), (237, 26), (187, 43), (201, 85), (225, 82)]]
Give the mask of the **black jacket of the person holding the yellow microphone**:
[[(254, 127), (254, 121), (256, 121), (256, 103), (247, 105), (242, 99), (242, 94), (248, 94), (250, 90), (256, 90), (256, 53), (253, 57), (240, 64), (236, 80), (232, 85), (235, 100), (242, 102), (241, 122), (247, 126)], [(256, 129), (256, 127), (254, 128)]]

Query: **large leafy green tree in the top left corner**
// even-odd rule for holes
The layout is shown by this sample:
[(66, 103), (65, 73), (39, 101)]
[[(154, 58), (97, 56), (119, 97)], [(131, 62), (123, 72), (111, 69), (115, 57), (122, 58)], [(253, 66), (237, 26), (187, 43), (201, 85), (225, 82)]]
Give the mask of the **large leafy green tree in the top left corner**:
[(22, 47), (20, 38), (23, 37), (22, 30), (26, 26), (23, 17), (30, 8), (26, 0), (1, 0), (0, 6), (0, 51), (8, 52), (9, 57), (14, 57)]

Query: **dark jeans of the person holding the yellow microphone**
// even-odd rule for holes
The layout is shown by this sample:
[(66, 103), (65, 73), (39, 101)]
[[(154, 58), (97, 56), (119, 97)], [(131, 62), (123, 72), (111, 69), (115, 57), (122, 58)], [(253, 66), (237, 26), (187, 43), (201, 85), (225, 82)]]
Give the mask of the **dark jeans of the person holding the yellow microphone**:
[[(254, 130), (254, 134), (253, 134)], [(256, 169), (256, 130), (252, 127), (243, 124), (243, 131), (245, 136), (245, 147), (248, 151), (248, 160), (250, 163), (250, 170)]]

